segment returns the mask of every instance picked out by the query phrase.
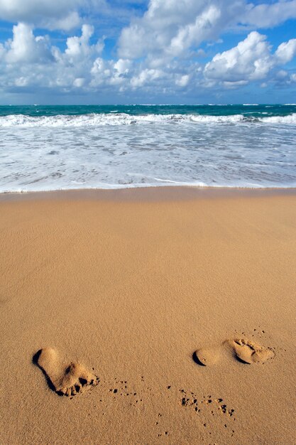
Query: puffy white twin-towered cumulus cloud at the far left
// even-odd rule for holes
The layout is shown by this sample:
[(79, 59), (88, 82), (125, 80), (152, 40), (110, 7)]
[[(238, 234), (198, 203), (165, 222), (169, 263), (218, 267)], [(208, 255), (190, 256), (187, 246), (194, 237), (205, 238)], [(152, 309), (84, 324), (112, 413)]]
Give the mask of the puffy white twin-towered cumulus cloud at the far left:
[(13, 39), (2, 50), (2, 87), (40, 87), (65, 92), (87, 88), (92, 80), (94, 58), (104, 48), (102, 41), (90, 43), (93, 31), (90, 25), (82, 26), (81, 35), (67, 38), (62, 52), (50, 45), (49, 38), (34, 36), (28, 24), (18, 23), (13, 27)]

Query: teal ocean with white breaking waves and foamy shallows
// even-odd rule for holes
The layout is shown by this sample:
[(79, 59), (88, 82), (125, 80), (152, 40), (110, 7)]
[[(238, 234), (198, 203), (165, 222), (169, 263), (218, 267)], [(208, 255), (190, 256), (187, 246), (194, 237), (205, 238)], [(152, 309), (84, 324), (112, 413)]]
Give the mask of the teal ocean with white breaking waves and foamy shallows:
[(296, 104), (1, 106), (0, 192), (296, 187)]

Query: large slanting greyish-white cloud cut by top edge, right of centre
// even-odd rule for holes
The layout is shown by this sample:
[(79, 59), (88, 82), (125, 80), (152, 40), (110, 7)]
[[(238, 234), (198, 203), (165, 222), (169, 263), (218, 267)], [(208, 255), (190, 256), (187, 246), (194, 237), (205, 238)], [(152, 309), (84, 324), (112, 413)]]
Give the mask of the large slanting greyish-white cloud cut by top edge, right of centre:
[(221, 28), (241, 14), (243, 7), (243, 0), (150, 0), (143, 17), (121, 32), (119, 55), (180, 56), (202, 41), (216, 39)]

